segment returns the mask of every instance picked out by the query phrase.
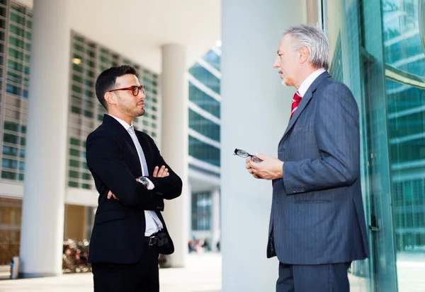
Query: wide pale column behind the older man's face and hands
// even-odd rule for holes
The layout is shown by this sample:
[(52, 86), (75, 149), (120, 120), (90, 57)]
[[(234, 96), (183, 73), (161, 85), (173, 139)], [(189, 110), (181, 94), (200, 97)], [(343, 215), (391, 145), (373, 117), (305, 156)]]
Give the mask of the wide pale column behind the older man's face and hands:
[(290, 0), (222, 0), (222, 291), (275, 291), (278, 260), (266, 258), (271, 182), (246, 172), (234, 148), (277, 156), (294, 88), (273, 61), (285, 28), (305, 21)]

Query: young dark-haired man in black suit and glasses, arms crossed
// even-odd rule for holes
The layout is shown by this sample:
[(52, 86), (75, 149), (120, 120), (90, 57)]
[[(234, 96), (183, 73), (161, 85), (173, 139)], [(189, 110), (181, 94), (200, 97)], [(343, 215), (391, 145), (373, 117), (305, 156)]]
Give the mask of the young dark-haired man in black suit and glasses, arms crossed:
[(164, 199), (180, 196), (182, 182), (152, 138), (132, 127), (146, 98), (135, 69), (103, 71), (96, 95), (108, 115), (86, 143), (99, 192), (89, 255), (94, 291), (158, 292), (158, 255), (174, 252), (160, 211)]

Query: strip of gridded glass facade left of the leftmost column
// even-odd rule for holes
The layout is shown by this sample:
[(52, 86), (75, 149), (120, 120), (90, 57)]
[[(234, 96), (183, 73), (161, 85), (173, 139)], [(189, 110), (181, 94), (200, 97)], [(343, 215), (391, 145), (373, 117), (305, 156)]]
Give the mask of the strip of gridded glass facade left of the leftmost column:
[(32, 13), (0, 1), (1, 180), (23, 182)]

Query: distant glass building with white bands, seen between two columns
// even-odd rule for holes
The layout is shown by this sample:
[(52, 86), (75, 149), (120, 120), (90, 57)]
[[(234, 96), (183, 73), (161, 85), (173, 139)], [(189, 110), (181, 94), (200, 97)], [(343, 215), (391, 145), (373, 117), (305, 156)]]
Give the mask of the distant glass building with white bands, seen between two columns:
[(188, 73), (190, 238), (211, 250), (220, 240), (220, 55), (213, 47)]

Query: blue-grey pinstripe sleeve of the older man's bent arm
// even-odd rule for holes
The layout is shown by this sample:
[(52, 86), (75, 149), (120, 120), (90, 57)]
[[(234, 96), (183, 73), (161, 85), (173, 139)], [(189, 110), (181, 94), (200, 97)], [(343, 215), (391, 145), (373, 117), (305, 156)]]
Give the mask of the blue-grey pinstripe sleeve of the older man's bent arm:
[(314, 134), (320, 158), (283, 164), (283, 184), (288, 195), (348, 186), (360, 175), (356, 100), (345, 86), (317, 98)]

